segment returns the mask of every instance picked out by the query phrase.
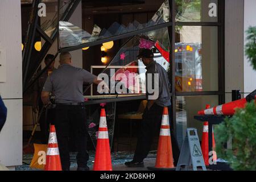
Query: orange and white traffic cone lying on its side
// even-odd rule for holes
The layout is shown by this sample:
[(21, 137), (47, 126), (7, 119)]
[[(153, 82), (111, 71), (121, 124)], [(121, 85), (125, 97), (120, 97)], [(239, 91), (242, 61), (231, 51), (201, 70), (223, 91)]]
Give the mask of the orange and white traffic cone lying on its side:
[(233, 115), (237, 107), (243, 108), (247, 103), (246, 98), (198, 111), (199, 115)]

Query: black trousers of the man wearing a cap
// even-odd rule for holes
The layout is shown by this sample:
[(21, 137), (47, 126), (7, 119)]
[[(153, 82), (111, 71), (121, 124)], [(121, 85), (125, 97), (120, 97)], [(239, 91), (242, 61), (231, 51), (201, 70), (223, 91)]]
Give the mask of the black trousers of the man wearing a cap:
[[(176, 166), (177, 160), (179, 160), (179, 146), (177, 144), (176, 137), (174, 135), (171, 122), (171, 106), (168, 107), (169, 110), (169, 122), (171, 127), (171, 142), (172, 142), (172, 155), (174, 156), (174, 164)], [(141, 130), (138, 134), (137, 147), (134, 153), (134, 162), (142, 162), (144, 158), (147, 157), (150, 151), (152, 140), (156, 134), (159, 135), (160, 127), (162, 123), (163, 107), (154, 104), (148, 110), (147, 107), (142, 115)]]

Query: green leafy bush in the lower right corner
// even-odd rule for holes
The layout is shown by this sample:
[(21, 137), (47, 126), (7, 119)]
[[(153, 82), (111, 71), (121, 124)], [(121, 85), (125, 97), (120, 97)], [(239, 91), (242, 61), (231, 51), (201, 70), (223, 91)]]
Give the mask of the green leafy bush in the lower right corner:
[[(256, 170), (256, 107), (254, 101), (245, 109), (237, 109), (232, 118), (216, 127), (216, 152), (218, 158), (229, 162), (234, 170)], [(232, 149), (224, 144), (232, 136)]]

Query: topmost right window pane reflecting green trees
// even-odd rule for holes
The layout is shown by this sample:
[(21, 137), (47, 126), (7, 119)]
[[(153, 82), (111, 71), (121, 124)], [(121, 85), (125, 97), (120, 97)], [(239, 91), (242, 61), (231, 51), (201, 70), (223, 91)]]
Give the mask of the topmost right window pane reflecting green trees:
[(176, 22), (217, 22), (218, 0), (175, 0)]

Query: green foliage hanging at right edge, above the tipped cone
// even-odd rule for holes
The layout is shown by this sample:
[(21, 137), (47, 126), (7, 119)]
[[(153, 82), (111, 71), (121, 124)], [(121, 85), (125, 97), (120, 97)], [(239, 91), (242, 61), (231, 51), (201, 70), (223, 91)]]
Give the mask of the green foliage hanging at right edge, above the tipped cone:
[(256, 70), (256, 27), (249, 27), (246, 34), (247, 43), (245, 46), (245, 54), (253, 66), (253, 69)]

